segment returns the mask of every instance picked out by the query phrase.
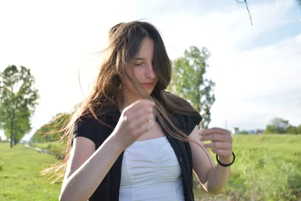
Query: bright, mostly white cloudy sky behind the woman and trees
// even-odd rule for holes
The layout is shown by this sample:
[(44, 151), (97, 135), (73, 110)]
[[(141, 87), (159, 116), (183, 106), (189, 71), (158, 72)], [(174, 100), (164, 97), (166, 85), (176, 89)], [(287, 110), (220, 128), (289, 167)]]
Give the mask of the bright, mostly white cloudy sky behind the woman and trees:
[[(164, 2), (164, 3), (162, 3)], [(216, 82), (209, 127), (264, 129), (273, 117), (301, 124), (301, 10), (295, 0), (2, 1), (0, 70), (31, 69), (41, 98), (32, 135), (88, 91), (110, 27), (144, 19), (161, 32), (169, 56), (191, 45), (212, 56)], [(83, 88), (80, 89), (79, 79)], [(3, 134), (0, 134), (0, 136)], [(27, 136), (25, 139), (28, 139)]]

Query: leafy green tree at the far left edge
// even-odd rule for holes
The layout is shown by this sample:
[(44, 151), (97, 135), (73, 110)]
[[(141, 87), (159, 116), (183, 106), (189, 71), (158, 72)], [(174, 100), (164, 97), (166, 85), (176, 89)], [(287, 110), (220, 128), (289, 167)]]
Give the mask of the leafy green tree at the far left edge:
[(0, 129), (11, 139), (11, 148), (31, 129), (30, 118), (39, 98), (35, 78), (24, 66), (8, 66), (0, 73)]

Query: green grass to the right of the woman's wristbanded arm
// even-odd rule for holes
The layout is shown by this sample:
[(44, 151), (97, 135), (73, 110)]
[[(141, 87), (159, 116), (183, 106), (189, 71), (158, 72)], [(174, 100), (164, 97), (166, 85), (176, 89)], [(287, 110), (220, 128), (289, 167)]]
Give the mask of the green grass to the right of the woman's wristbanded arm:
[(301, 197), (301, 135), (236, 135), (236, 162), (224, 190), (235, 200)]

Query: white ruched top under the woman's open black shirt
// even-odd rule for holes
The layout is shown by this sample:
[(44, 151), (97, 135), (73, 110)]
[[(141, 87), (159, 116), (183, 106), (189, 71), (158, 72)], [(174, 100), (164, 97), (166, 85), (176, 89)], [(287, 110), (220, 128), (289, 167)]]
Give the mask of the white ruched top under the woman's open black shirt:
[(166, 137), (136, 141), (124, 150), (120, 201), (184, 200), (177, 156)]

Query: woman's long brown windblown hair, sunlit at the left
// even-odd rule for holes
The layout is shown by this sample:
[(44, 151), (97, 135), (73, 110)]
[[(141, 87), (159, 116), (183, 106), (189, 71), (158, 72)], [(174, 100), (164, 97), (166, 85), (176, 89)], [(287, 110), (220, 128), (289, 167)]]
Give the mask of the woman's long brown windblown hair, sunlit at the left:
[[(171, 136), (185, 142), (191, 141), (183, 131), (173, 125), (171, 114), (199, 114), (187, 100), (166, 90), (172, 78), (172, 63), (157, 28), (147, 22), (133, 21), (115, 25), (109, 30), (108, 35), (108, 44), (101, 52), (102, 62), (94, 86), (88, 97), (73, 112), (68, 125), (62, 129), (65, 132), (60, 141), (67, 142), (63, 152), (65, 158), (42, 172), (42, 174), (52, 174), (51, 177), (55, 178), (53, 182), (64, 176), (67, 161), (70, 158), (73, 123), (82, 116), (93, 116), (101, 124), (105, 124), (97, 117), (122, 107), (118, 103), (123, 104), (121, 83), (125, 77), (130, 79), (143, 98), (155, 101), (158, 120)], [(140, 45), (146, 37), (152, 39), (155, 44), (153, 68), (158, 77), (158, 83), (150, 95), (141, 93), (141, 90), (143, 90), (141, 85), (138, 84), (135, 77), (129, 76), (126, 72), (126, 67), (132, 69), (130, 68), (130, 61), (139, 51)], [(205, 150), (205, 148), (203, 149)]]

